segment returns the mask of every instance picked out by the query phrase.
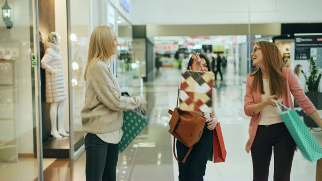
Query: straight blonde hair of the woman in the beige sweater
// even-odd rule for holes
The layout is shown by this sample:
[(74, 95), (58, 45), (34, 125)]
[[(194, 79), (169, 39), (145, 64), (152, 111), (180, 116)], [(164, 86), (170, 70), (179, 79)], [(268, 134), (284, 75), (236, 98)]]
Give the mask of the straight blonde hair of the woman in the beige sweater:
[(84, 73), (84, 80), (89, 66), (95, 61), (108, 62), (109, 58), (116, 53), (116, 45), (112, 34), (112, 28), (109, 26), (97, 26), (91, 35), (89, 54)]

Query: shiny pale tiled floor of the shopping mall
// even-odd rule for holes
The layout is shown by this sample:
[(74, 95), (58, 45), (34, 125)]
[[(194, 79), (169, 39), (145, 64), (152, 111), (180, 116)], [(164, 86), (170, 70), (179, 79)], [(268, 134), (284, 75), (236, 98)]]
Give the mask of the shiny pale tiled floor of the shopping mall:
[[(252, 180), (252, 159), (245, 151), (249, 138), (250, 118), (243, 109), (245, 76), (228, 71), (223, 81), (217, 81), (216, 114), (221, 123), (227, 157), (224, 163), (208, 161), (205, 180)], [(133, 83), (129, 73), (118, 75), (123, 91), (147, 98), (149, 125), (119, 155), (117, 180), (178, 180), (178, 164), (173, 157), (173, 138), (168, 132), (170, 115), (168, 109), (176, 106), (180, 70), (164, 68), (156, 74), (153, 82), (143, 87)], [(322, 133), (314, 133), (322, 142)], [(85, 152), (74, 162), (68, 159), (44, 159), (44, 180), (86, 180)], [(28, 161), (27, 161), (28, 162)], [(47, 165), (46, 165), (46, 163)], [(34, 166), (35, 161), (29, 160)], [(269, 179), (273, 180), (273, 159)], [(0, 180), (34, 180), (24, 177), (24, 167), (28, 164), (11, 163), (11, 168), (0, 163)], [(13, 170), (13, 171), (12, 171)], [(17, 172), (19, 171), (20, 172)], [(291, 180), (315, 180), (316, 162), (309, 162), (298, 151), (295, 153)], [(18, 174), (19, 173), (19, 174)], [(21, 176), (18, 176), (20, 175)], [(26, 173), (27, 174), (27, 173)], [(32, 173), (30, 173), (32, 174)], [(36, 174), (34, 174), (36, 175)]]

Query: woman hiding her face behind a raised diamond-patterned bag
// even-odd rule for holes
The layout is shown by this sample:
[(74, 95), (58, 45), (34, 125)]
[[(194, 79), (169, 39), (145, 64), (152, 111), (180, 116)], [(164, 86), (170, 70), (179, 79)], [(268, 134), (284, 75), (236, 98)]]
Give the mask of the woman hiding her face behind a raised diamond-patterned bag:
[[(201, 70), (197, 62), (198, 59), (200, 60), (200, 64), (203, 67), (204, 71), (211, 70), (208, 58), (204, 54), (199, 53), (192, 55), (192, 57), (189, 60), (187, 69)], [(193, 146), (185, 163), (178, 162), (180, 181), (203, 180), (203, 176), (205, 175), (207, 160), (212, 150), (212, 130), (216, 127), (218, 123), (217, 117), (215, 116), (214, 105), (216, 97), (215, 88), (213, 88), (212, 90), (212, 95), (213, 112), (204, 113), (204, 117), (206, 118), (206, 124), (199, 142)], [(202, 112), (200, 112), (199, 114), (202, 116)], [(183, 160), (189, 148), (185, 146), (183, 143), (181, 143), (179, 140), (177, 141), (176, 147), (178, 152), (178, 159)]]

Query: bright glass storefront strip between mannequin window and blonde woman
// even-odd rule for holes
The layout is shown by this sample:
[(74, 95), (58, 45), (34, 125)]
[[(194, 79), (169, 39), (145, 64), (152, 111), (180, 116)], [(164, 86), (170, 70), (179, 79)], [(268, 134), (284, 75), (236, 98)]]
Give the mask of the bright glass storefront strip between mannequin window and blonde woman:
[[(87, 63), (88, 46), (90, 42), (91, 34), (91, 9), (94, 8), (91, 1), (70, 1), (70, 42), (71, 49), (70, 58), (72, 67), (69, 67), (69, 71), (72, 71), (71, 86), (72, 89), (72, 118), (70, 118), (73, 124), (73, 143), (74, 152), (82, 153), (82, 146), (84, 145), (84, 132), (82, 130), (82, 118), (81, 111), (84, 107), (85, 100), (85, 80), (84, 72)], [(89, 8), (90, 7), (90, 8)], [(79, 154), (78, 154), (79, 155)], [(76, 157), (78, 156), (76, 155)]]

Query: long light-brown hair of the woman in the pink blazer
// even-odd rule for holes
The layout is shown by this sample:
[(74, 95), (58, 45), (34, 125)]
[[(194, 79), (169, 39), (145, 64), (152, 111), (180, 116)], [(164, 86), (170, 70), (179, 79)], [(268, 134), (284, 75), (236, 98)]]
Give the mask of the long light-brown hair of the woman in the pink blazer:
[[(286, 85), (282, 72), (284, 62), (279, 53), (279, 50), (274, 43), (268, 41), (259, 41), (256, 42), (256, 44), (261, 48), (261, 51), (263, 53), (264, 66), (266, 68), (266, 71), (269, 73), (268, 75), (270, 78), (271, 96), (277, 95), (277, 98), (282, 98), (286, 90)], [(262, 79), (263, 76), (260, 67), (256, 67), (251, 75), (254, 76), (254, 81), (251, 85), (251, 93), (260, 89), (260, 92), (262, 94), (265, 94)]]

